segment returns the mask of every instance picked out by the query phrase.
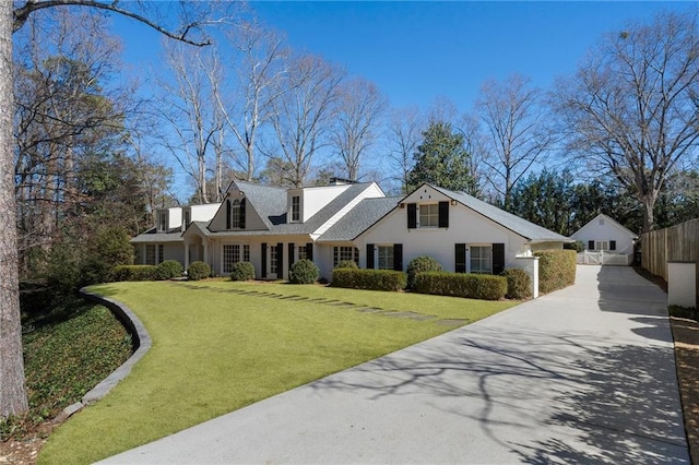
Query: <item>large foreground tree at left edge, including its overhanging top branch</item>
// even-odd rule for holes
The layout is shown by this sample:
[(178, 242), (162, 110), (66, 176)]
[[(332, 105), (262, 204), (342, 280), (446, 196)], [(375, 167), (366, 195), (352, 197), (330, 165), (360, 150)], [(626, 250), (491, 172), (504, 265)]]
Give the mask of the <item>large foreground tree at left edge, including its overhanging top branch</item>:
[[(21, 414), (27, 409), (24, 386), (24, 363), (22, 359), (22, 331), (20, 321), (20, 297), (17, 274), (17, 240), (14, 191), (14, 163), (12, 151), (12, 128), (14, 115), (12, 35), (17, 32), (37, 10), (61, 4), (84, 5), (111, 11), (132, 17), (179, 40), (192, 44), (208, 43), (205, 37), (193, 36), (203, 16), (183, 22), (179, 32), (158, 25), (156, 21), (140, 14), (137, 10), (122, 9), (114, 1), (96, 0), (46, 0), (27, 1), (15, 9), (15, 3), (0, 2), (0, 417)], [(131, 3), (129, 3), (131, 5)], [(134, 5), (137, 8), (138, 4)], [(205, 7), (202, 4), (202, 7)]]

